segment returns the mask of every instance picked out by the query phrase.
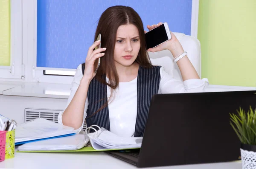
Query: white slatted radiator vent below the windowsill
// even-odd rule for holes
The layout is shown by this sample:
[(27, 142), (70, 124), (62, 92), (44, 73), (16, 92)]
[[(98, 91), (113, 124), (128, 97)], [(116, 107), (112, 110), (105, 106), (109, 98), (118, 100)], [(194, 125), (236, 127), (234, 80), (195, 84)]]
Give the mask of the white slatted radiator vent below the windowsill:
[[(63, 110), (50, 110), (50, 109), (25, 109), (24, 122), (34, 120), (36, 118), (45, 118), (49, 121), (58, 123), (58, 114)], [(84, 126), (82, 130), (86, 129), (86, 121), (84, 121)]]

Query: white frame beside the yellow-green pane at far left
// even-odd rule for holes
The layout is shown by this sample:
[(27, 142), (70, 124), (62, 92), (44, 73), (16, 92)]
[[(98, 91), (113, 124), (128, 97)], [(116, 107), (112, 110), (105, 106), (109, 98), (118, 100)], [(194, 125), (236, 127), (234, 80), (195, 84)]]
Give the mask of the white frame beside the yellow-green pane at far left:
[(11, 0), (10, 66), (0, 66), (0, 80), (22, 79), (22, 0)]

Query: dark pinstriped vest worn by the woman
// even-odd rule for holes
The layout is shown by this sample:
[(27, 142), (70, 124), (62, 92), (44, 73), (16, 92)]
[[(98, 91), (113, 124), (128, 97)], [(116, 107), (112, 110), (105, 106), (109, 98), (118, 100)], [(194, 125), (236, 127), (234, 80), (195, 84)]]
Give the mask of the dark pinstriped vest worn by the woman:
[[(84, 74), (84, 64), (82, 64)], [(106, 80), (106, 76), (102, 76)], [(158, 93), (160, 83), (160, 66), (144, 68), (140, 66), (137, 76), (137, 118), (134, 137), (142, 137), (144, 134), (146, 120), (151, 98)], [(110, 131), (108, 106), (92, 115), (105, 104), (107, 98), (107, 85), (99, 82), (95, 77), (90, 82), (87, 93), (89, 105), (87, 108), (87, 127), (98, 125)], [(92, 115), (92, 116), (91, 116)]]

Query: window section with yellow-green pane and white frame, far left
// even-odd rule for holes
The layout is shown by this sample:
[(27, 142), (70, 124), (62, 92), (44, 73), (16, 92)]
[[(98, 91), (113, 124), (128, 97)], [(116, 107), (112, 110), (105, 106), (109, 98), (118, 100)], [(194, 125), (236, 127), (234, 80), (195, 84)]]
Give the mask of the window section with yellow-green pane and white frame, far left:
[[(21, 79), (21, 0), (0, 1), (0, 79)], [(2, 17), (3, 16), (3, 17)]]

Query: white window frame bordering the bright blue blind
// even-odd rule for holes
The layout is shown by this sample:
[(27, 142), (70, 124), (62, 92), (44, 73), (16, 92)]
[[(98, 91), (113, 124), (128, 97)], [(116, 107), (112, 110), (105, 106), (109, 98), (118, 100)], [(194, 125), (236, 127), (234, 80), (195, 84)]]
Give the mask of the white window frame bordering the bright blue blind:
[[(26, 81), (71, 84), (73, 76), (44, 75), (43, 70), (76, 71), (76, 69), (43, 68), (37, 59), (37, 0), (23, 0), (23, 59), (26, 62)], [(192, 0), (191, 36), (197, 37), (199, 0)], [(26, 23), (26, 24), (25, 24)]]

